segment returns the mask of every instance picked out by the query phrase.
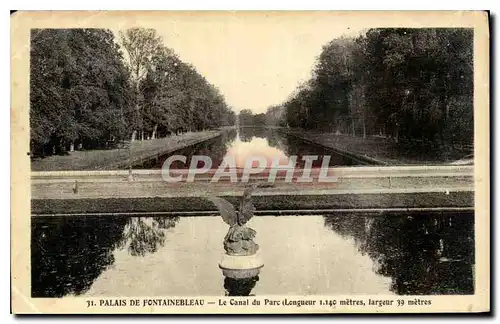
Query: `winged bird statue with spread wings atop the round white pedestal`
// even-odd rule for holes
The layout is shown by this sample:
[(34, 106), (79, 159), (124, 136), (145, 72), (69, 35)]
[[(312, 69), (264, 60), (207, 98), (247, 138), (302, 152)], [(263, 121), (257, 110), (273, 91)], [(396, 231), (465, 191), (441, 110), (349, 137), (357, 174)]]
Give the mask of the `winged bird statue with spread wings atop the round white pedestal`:
[(224, 250), (228, 255), (248, 256), (255, 254), (259, 249), (258, 244), (253, 241), (255, 230), (246, 226), (255, 212), (252, 204), (253, 190), (254, 187), (249, 187), (244, 191), (238, 210), (223, 198), (208, 198), (218, 208), (224, 222), (229, 225), (229, 231), (224, 237)]

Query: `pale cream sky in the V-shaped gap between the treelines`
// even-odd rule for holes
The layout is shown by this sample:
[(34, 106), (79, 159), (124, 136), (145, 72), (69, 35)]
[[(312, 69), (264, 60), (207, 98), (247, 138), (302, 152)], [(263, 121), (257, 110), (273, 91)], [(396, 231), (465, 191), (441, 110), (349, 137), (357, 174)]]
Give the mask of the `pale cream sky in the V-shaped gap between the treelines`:
[(327, 12), (219, 12), (163, 16), (140, 27), (155, 28), (167, 47), (219, 88), (234, 111), (257, 114), (283, 103), (310, 79), (323, 45), (359, 35), (356, 23), (362, 21)]

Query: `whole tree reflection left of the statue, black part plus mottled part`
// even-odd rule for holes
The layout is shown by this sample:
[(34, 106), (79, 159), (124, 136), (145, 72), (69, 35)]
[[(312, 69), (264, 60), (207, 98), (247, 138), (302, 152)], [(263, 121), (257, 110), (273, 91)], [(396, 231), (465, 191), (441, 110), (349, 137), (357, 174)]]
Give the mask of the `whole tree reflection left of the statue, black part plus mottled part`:
[(144, 256), (165, 242), (165, 229), (178, 217), (34, 218), (31, 230), (33, 297), (85, 293), (115, 262), (113, 251), (127, 247)]

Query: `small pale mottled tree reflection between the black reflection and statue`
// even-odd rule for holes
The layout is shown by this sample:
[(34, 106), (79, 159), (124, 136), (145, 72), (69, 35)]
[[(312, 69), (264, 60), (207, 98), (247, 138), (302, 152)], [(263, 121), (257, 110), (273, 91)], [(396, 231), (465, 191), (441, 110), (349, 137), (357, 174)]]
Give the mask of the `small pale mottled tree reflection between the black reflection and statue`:
[(133, 256), (154, 253), (165, 244), (165, 229), (174, 227), (179, 217), (131, 217), (125, 225), (120, 248)]

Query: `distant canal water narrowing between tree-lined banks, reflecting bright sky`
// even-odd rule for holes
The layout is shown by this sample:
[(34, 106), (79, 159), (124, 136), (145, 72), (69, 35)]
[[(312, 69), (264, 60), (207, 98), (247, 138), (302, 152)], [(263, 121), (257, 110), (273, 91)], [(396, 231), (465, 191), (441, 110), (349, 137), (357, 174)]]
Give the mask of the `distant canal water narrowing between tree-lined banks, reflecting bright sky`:
[(243, 168), (245, 161), (252, 157), (263, 157), (270, 166), (274, 158), (279, 158), (281, 164), (286, 164), (290, 156), (297, 156), (296, 167), (302, 167), (304, 155), (317, 155), (312, 163), (313, 168), (323, 164), (323, 158), (329, 156), (329, 166), (353, 166), (363, 164), (347, 156), (341, 155), (321, 145), (304, 142), (294, 136), (286, 135), (279, 129), (241, 127), (237, 130), (224, 132), (221, 136), (199, 143), (169, 154), (158, 156), (147, 162), (135, 165), (134, 169), (161, 169), (163, 162), (172, 155), (186, 156), (186, 162), (174, 162), (173, 169), (188, 168), (193, 155), (209, 156), (212, 168), (220, 166), (225, 157), (234, 157), (236, 167)]

